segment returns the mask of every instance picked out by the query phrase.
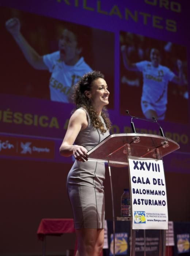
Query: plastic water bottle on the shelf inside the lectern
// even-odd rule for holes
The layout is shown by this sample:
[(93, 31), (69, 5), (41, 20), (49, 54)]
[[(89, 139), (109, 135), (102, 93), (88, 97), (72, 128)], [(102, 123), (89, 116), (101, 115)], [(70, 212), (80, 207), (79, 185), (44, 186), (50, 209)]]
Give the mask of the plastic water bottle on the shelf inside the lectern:
[(131, 207), (130, 207), (130, 192), (128, 188), (124, 188), (123, 194), (121, 196), (121, 216), (127, 217), (131, 216)]

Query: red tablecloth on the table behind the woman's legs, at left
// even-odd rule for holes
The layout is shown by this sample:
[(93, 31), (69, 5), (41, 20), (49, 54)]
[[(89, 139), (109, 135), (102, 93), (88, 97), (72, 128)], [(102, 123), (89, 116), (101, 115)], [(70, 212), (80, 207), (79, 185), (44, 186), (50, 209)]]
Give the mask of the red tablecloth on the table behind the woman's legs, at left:
[(46, 235), (61, 236), (64, 233), (75, 233), (73, 219), (42, 219), (37, 231), (40, 240)]

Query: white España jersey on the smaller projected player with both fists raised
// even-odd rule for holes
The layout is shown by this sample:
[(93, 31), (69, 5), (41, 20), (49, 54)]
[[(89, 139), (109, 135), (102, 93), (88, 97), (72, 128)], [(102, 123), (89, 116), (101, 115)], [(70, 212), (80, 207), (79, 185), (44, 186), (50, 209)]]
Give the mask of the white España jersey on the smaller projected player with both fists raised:
[(167, 104), (167, 87), (175, 74), (167, 67), (159, 65), (153, 67), (150, 61), (136, 63), (139, 71), (143, 74), (143, 86), (141, 101)]

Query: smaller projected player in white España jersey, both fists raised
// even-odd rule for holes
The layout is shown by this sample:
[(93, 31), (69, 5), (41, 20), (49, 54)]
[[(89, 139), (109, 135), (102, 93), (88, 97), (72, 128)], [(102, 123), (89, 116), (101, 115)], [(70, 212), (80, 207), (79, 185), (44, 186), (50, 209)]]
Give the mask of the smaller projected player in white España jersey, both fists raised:
[(121, 46), (123, 64), (130, 71), (140, 71), (143, 75), (141, 108), (147, 119), (156, 117), (164, 120), (167, 106), (168, 82), (183, 84), (182, 61), (178, 60), (179, 74), (176, 76), (169, 68), (160, 65), (160, 53), (152, 48), (150, 61), (144, 60), (130, 63), (126, 54), (126, 46)]

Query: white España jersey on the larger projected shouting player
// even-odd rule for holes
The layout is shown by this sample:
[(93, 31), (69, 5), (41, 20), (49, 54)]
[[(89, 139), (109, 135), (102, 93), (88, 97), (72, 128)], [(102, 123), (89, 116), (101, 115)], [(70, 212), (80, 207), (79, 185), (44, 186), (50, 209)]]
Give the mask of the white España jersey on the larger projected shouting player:
[(52, 73), (49, 83), (52, 101), (68, 103), (72, 86), (81, 76), (92, 70), (83, 57), (74, 66), (66, 65), (60, 60), (59, 51), (44, 55), (43, 61)]

